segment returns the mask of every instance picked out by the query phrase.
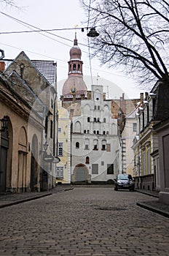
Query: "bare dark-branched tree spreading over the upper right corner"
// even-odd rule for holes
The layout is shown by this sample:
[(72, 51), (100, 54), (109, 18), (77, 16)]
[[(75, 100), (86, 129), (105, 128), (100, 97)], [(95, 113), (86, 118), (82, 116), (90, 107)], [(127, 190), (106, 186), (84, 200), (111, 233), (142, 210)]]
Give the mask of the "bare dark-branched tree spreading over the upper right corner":
[(102, 64), (123, 67), (140, 84), (169, 84), (168, 0), (81, 0), (99, 37), (93, 54)]

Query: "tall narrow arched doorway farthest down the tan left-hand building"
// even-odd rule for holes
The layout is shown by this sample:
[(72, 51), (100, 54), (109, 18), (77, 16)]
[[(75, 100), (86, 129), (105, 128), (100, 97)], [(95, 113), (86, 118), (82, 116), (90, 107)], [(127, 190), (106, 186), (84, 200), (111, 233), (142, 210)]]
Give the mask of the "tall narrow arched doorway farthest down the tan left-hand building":
[(38, 140), (34, 135), (31, 144), (31, 192), (38, 189)]

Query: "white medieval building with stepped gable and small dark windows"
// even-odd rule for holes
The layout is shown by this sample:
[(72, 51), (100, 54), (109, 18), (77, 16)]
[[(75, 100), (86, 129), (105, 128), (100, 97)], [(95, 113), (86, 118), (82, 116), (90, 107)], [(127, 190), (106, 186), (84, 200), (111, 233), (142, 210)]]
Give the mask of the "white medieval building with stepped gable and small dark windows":
[(121, 149), (103, 86), (92, 86), (91, 98), (82, 99), (80, 108), (81, 114), (72, 118), (71, 181), (112, 181), (120, 169)]

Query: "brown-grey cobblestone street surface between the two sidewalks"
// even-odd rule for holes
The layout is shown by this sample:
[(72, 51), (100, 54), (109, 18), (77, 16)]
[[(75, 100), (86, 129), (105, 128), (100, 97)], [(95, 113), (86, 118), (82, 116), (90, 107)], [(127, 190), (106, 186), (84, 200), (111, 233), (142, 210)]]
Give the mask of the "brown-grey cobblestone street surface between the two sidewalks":
[(168, 256), (169, 219), (141, 201), (152, 197), (75, 187), (0, 208), (0, 255)]

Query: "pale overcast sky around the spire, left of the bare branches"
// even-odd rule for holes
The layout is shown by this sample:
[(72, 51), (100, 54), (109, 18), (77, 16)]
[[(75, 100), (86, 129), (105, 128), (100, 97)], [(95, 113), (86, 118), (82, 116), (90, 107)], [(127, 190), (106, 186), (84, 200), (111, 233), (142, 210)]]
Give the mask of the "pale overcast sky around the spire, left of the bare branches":
[[(74, 45), (75, 26), (87, 26), (87, 17), (79, 0), (16, 0), (20, 10), (0, 4), (0, 32), (31, 31), (39, 29), (63, 29), (51, 31), (52, 34), (31, 32), (20, 34), (0, 34), (0, 48), (4, 50), (5, 59), (15, 59), (24, 51), (29, 59), (57, 61), (58, 82), (68, 77), (69, 50)], [(9, 16), (11, 17), (9, 17)], [(15, 18), (15, 19), (14, 19)], [(17, 19), (17, 20), (16, 20)], [(85, 22), (85, 23), (84, 23)], [(70, 29), (70, 30), (66, 30)], [(76, 29), (79, 47), (82, 50), (83, 74), (90, 75), (90, 61), (87, 44), (87, 30)], [(63, 37), (63, 38), (60, 38)], [(115, 83), (127, 97), (138, 98), (140, 89), (133, 80), (122, 72), (101, 67), (97, 59), (91, 60), (92, 75)], [(99, 78), (98, 78), (99, 83)], [(107, 85), (105, 91), (107, 91)], [(109, 86), (109, 97), (114, 98), (114, 88)]]

